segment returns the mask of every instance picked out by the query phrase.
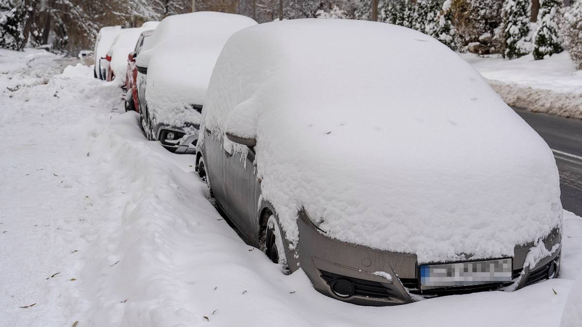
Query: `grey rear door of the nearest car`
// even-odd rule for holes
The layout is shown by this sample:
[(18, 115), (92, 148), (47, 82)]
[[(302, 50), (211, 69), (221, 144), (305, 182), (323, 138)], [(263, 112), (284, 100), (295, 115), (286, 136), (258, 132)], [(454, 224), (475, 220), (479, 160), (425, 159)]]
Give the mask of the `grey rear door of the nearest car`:
[(214, 193), (217, 207), (228, 215), (229, 204), (226, 198), (224, 180), (226, 156), (222, 148), (224, 137), (212, 133), (208, 129), (205, 129), (204, 133), (203, 157), (207, 178), (210, 180), (210, 187), (212, 187), (212, 193)]

